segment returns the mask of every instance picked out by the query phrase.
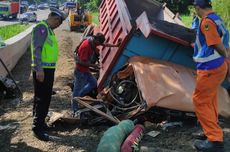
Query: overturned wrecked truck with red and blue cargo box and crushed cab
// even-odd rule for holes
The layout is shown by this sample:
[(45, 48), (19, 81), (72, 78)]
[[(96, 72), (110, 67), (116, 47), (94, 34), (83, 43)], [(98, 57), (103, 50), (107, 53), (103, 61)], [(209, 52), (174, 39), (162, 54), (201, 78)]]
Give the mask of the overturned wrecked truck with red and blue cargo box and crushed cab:
[[(155, 0), (103, 0), (99, 11), (99, 27), (87, 32), (102, 32), (106, 42), (122, 43), (100, 48), (97, 99), (79, 97), (76, 102), (115, 123), (156, 107), (194, 112), (195, 32)], [(230, 117), (229, 85), (225, 81), (219, 88), (224, 117)]]

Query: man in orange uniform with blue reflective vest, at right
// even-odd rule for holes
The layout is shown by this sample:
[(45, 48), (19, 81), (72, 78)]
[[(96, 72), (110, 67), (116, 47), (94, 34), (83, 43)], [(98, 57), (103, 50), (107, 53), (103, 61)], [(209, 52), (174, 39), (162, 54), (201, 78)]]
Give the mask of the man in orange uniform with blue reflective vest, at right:
[(212, 10), (210, 0), (195, 0), (201, 18), (197, 30), (193, 59), (197, 63), (197, 83), (193, 93), (196, 116), (206, 140), (196, 140), (198, 151), (224, 151), (223, 131), (218, 125), (217, 90), (226, 77), (229, 32), (222, 19)]

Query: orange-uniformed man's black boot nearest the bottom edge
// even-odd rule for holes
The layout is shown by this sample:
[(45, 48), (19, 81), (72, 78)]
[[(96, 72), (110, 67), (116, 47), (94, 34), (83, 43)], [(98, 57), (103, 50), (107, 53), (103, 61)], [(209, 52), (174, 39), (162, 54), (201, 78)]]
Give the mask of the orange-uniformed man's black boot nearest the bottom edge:
[(195, 140), (194, 146), (199, 152), (224, 152), (223, 142)]

